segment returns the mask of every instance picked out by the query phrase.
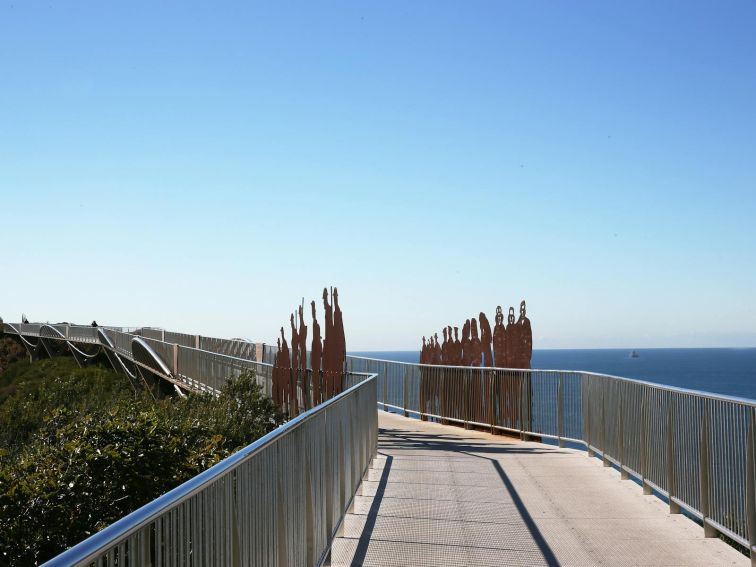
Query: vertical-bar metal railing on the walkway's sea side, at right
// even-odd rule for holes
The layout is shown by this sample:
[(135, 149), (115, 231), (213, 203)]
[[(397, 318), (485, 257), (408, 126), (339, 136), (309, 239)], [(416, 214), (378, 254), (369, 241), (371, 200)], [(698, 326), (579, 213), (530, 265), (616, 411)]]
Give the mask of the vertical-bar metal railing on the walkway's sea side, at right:
[(347, 357), (378, 374), (378, 404), (421, 419), (586, 447), (671, 513), (756, 556), (756, 401), (560, 370), (429, 366)]

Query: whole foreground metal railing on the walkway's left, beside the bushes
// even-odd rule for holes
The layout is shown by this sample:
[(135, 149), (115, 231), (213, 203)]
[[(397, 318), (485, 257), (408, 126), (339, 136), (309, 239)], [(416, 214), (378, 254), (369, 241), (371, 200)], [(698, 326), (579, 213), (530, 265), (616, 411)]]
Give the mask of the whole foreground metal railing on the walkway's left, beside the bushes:
[(375, 377), (46, 565), (319, 565), (377, 450)]

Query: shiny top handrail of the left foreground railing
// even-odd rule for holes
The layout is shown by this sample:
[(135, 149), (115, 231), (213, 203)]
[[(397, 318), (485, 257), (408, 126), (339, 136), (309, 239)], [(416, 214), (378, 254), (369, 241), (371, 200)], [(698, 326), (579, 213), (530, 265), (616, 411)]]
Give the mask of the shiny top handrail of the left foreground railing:
[(64, 551), (57, 557), (44, 563), (44, 565), (48, 567), (57, 567), (88, 564), (106, 550), (127, 540), (129, 536), (149, 525), (158, 517), (169, 513), (181, 503), (213, 484), (216, 480), (226, 476), (232, 470), (249, 461), (252, 457), (259, 454), (276, 441), (283, 439), (292, 431), (303, 426), (314, 417), (324, 413), (328, 408), (352, 396), (358, 390), (374, 384), (375, 379), (375, 374), (368, 375), (365, 381), (352, 386), (338, 396), (323, 402), (319, 406), (300, 414), (296, 418), (264, 435), (257, 441), (254, 441), (194, 478), (189, 479), (156, 500), (145, 504), (138, 510), (124, 516), (100, 532), (97, 532), (74, 547)]

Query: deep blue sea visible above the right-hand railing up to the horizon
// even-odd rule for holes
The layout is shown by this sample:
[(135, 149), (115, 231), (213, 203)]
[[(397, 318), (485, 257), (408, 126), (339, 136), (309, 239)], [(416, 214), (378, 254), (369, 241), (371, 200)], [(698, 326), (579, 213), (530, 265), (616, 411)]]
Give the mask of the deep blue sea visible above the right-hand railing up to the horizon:
[[(678, 388), (756, 400), (756, 348), (657, 348), (534, 350), (533, 368), (584, 370), (636, 378)], [(417, 351), (353, 352), (400, 362), (417, 362)]]

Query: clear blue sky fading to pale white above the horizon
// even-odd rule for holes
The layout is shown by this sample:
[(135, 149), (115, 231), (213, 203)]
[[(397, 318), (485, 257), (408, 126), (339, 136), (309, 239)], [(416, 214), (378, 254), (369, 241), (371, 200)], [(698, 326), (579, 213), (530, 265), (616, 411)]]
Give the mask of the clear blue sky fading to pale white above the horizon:
[[(756, 2), (0, 4), (0, 315), (756, 346)], [(321, 305), (319, 301), (319, 306)], [(322, 313), (320, 314), (322, 320)]]

